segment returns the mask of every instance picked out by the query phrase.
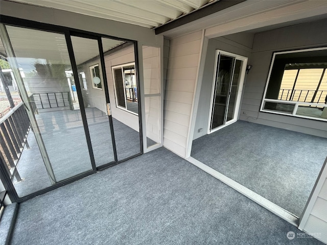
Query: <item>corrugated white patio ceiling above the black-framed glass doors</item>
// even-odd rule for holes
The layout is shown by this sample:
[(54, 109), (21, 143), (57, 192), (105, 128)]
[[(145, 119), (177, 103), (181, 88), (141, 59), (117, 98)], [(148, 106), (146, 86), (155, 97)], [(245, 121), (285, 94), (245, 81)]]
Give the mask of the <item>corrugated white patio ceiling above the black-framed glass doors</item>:
[(154, 28), (219, 0), (7, 0)]

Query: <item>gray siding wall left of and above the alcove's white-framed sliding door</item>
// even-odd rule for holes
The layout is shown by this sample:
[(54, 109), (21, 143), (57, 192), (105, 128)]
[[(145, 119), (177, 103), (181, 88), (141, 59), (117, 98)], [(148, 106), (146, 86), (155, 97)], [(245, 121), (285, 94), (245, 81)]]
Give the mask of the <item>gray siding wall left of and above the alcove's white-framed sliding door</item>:
[[(212, 103), (210, 95), (214, 79), (216, 50), (250, 57), (252, 42), (253, 34), (250, 33), (233, 34), (208, 40), (193, 139), (207, 133), (209, 110)], [(200, 129), (202, 129), (201, 132), (199, 132)]]

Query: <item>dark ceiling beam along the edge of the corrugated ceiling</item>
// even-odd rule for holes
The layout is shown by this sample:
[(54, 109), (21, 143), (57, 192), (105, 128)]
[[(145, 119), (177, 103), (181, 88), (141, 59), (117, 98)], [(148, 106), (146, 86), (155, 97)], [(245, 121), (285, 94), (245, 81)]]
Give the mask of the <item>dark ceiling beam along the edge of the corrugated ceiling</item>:
[(192, 22), (194, 20), (200, 19), (205, 17), (209, 14), (216, 13), (218, 11), (227, 9), (231, 6), (237, 5), (239, 3), (245, 2), (246, 0), (235, 0), (235, 1), (228, 1), (228, 0), (220, 0), (218, 2), (214, 2), (209, 4), (201, 9), (195, 10), (189, 14), (181, 16), (175, 20), (172, 20), (166, 24), (162, 24), (161, 26), (154, 28), (155, 34), (160, 34), (169, 30), (172, 30), (176, 27), (180, 27), (183, 24)]

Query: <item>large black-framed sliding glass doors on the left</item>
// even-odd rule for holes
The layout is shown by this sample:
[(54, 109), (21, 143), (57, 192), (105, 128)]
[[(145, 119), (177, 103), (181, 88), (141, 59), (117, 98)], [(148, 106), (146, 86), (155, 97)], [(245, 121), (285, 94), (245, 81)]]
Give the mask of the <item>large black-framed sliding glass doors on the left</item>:
[[(0, 29), (6, 51), (0, 58), (22, 100), (0, 128), (8, 134), (0, 142), (0, 164), (17, 200), (143, 152), (135, 42), (42, 25)], [(114, 101), (117, 65), (123, 108)]]

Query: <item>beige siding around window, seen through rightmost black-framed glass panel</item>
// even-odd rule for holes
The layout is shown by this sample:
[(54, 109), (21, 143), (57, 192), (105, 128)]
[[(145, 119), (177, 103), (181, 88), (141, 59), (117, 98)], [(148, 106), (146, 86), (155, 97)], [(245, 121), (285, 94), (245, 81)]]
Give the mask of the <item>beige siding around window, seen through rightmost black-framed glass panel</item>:
[(131, 45), (121, 51), (104, 57), (106, 65), (107, 82), (109, 89), (110, 105), (112, 117), (123, 122), (123, 124), (139, 131), (138, 116), (116, 107), (115, 93), (113, 87), (112, 66), (135, 62), (134, 46)]

